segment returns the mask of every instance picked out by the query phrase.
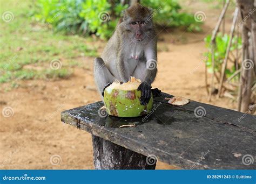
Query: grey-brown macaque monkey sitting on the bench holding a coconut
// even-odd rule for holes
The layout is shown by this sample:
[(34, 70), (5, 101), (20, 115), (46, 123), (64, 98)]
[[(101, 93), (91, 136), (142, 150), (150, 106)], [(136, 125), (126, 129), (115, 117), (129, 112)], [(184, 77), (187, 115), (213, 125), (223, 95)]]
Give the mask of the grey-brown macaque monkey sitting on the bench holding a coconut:
[(100, 94), (103, 96), (104, 89), (114, 80), (127, 82), (134, 76), (142, 81), (138, 87), (142, 91), (140, 103), (147, 104), (157, 74), (156, 62), (157, 35), (152, 10), (134, 4), (124, 11), (101, 58), (95, 59), (94, 75)]

